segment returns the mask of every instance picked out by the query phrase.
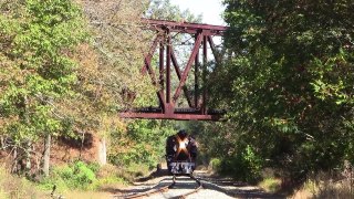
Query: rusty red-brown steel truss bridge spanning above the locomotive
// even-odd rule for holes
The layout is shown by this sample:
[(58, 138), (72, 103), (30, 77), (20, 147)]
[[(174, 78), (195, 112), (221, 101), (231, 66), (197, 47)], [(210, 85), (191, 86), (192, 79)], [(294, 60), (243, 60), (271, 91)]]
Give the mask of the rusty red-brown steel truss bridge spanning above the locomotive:
[[(212, 51), (216, 62), (220, 62), (212, 36), (221, 36), (227, 27), (209, 25), (199, 23), (174, 22), (165, 20), (144, 20), (148, 29), (157, 32), (149, 52), (145, 56), (145, 64), (142, 73), (148, 73), (152, 83), (159, 86), (157, 92), (159, 106), (148, 108), (135, 108), (121, 113), (121, 117), (128, 118), (157, 118), (157, 119), (196, 119), (196, 121), (217, 121), (223, 114), (223, 111), (208, 109), (207, 106), (207, 87), (202, 86), (200, 91), (200, 77), (202, 83), (207, 81), (207, 55), (208, 43)], [(195, 42), (191, 49), (189, 59), (184, 67), (177, 63), (177, 56), (173, 46), (171, 33), (185, 33), (195, 36)], [(154, 67), (152, 66), (152, 59), (157, 49), (158, 50), (158, 80)], [(199, 62), (199, 50), (202, 49), (202, 64)], [(165, 60), (166, 59), (166, 60)], [(171, 66), (174, 66), (178, 77), (178, 85), (175, 91), (171, 90)], [(194, 91), (188, 91), (186, 86), (187, 77), (194, 66)], [(202, 66), (202, 67), (201, 67)], [(200, 69), (201, 67), (201, 69)], [(200, 75), (201, 73), (201, 75)], [(177, 100), (179, 100), (181, 92), (184, 92), (188, 107), (177, 107)]]

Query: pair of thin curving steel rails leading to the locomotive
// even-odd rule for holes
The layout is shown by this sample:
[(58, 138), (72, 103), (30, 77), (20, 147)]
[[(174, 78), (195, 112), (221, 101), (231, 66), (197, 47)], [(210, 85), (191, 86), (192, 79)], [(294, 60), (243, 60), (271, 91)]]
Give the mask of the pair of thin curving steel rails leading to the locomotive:
[[(189, 195), (192, 195), (192, 193), (196, 193), (198, 192), (201, 188), (202, 188), (202, 184), (200, 182), (199, 179), (195, 178), (194, 176), (189, 176), (190, 179), (195, 180), (196, 184), (197, 184), (197, 187), (188, 192), (185, 192), (183, 195), (178, 195), (178, 196), (174, 196), (174, 197), (170, 197), (173, 199), (181, 199), (181, 198), (186, 198), (187, 196)], [(129, 195), (114, 195), (113, 198), (115, 199), (137, 199), (137, 198), (145, 198), (145, 197), (152, 197), (154, 195), (158, 195), (158, 193), (164, 193), (164, 192), (167, 192), (169, 189), (174, 189), (175, 186), (176, 186), (176, 177), (174, 176), (173, 177), (173, 182), (170, 185), (167, 185), (167, 186), (163, 186), (163, 187), (159, 187), (159, 184), (162, 184), (163, 180), (160, 180), (159, 182), (157, 182), (155, 186), (153, 186), (152, 188), (149, 188), (148, 190), (144, 191), (144, 192), (137, 192), (137, 193), (129, 193)], [(180, 182), (183, 184), (183, 182)]]

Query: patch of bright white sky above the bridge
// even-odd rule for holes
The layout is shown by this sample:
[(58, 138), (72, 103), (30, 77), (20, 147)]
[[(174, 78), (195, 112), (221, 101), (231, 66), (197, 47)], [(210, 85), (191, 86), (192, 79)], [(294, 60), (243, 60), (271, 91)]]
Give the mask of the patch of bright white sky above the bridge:
[(222, 0), (170, 0), (181, 10), (189, 9), (196, 15), (202, 14), (202, 22), (208, 24), (225, 25), (221, 18), (223, 12)]

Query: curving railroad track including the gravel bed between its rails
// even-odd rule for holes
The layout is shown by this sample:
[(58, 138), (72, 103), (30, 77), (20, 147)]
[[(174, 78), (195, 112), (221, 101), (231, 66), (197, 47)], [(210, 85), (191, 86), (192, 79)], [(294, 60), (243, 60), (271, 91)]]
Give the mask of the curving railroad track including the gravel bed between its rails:
[[(171, 182), (170, 182), (171, 180)], [(126, 193), (114, 195), (113, 198), (136, 199), (136, 198), (186, 198), (198, 192), (202, 184), (194, 176), (164, 178), (149, 188), (132, 190)]]

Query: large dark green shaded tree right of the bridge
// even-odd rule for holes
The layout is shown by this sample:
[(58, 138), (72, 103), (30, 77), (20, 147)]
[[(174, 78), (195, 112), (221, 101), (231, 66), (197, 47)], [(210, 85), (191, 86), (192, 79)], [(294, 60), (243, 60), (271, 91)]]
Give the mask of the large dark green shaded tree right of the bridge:
[(225, 3), (232, 56), (215, 91), (229, 104), (238, 145), (296, 179), (353, 161), (353, 4)]

